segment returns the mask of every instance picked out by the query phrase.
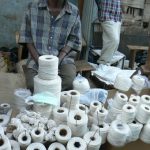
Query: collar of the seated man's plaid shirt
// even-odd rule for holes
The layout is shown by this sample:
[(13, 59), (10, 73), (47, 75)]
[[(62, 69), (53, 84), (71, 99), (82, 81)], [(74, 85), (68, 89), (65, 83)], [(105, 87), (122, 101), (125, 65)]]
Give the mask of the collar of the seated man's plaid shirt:
[[(39, 8), (47, 8), (47, 0), (39, 0), (38, 7)], [(69, 14), (72, 13), (72, 7), (68, 1), (66, 2), (63, 9)]]

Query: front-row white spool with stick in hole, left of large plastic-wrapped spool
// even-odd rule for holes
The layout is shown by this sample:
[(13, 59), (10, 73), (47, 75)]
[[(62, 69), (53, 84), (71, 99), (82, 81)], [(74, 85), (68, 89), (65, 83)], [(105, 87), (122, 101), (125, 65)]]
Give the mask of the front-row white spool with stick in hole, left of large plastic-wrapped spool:
[(87, 132), (83, 137), (83, 139), (85, 140), (85, 142), (87, 144), (88, 150), (99, 150), (100, 149), (102, 138), (98, 134), (97, 131)]

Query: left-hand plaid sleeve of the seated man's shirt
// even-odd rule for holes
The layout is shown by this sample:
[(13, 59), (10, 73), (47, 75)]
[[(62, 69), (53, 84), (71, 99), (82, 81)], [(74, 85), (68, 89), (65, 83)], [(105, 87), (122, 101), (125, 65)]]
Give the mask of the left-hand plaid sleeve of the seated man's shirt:
[(31, 17), (30, 9), (25, 12), (20, 28), (19, 44), (33, 43), (31, 35)]

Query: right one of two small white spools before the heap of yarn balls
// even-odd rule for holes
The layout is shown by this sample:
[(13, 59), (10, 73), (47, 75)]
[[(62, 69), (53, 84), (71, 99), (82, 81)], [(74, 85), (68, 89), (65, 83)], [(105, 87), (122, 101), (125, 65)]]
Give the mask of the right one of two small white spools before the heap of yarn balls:
[(31, 131), (33, 142), (41, 143), (44, 140), (45, 131), (41, 127), (36, 127)]

